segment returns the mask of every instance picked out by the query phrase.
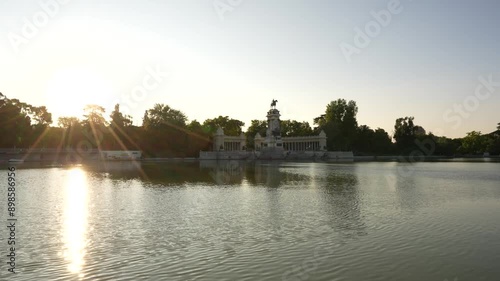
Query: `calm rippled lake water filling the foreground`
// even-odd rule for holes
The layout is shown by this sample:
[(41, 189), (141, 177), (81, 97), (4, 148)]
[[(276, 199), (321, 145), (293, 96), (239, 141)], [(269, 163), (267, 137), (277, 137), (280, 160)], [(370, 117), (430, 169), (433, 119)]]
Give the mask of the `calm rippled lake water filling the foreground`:
[(12, 280), (500, 280), (500, 163), (109, 163), (17, 181)]

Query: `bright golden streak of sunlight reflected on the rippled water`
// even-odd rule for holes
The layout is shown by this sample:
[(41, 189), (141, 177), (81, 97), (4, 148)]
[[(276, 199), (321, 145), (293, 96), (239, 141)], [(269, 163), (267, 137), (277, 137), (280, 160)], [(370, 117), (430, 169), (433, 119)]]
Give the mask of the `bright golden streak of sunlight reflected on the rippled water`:
[(83, 277), (85, 263), (86, 229), (87, 229), (87, 178), (85, 172), (76, 168), (69, 171), (64, 186), (64, 260), (68, 270)]

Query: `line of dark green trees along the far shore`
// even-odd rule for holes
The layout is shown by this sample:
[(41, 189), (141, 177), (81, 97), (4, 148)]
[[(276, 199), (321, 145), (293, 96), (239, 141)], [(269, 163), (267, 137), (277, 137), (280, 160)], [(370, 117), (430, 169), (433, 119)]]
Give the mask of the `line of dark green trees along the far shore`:
[[(500, 154), (500, 123), (489, 134), (469, 132), (463, 138), (436, 136), (415, 124), (414, 117), (396, 119), (393, 134), (372, 129), (357, 121), (355, 101), (337, 99), (324, 114), (308, 122), (283, 120), (283, 137), (327, 135), (328, 150), (354, 151), (355, 155), (408, 155), (419, 142), (431, 142), (433, 154), (442, 156)], [(218, 127), (230, 136), (246, 133), (247, 149), (253, 149), (257, 133), (266, 136), (267, 121), (245, 123), (228, 116), (188, 122), (182, 111), (165, 104), (155, 104), (145, 111), (142, 125), (134, 126), (131, 116), (120, 112), (117, 104), (106, 117), (99, 105), (86, 105), (82, 118), (60, 117), (53, 126), (52, 114), (45, 106), (32, 106), (0, 93), (1, 148), (73, 148), (101, 150), (141, 150), (149, 157), (196, 157), (200, 150), (210, 150)]]

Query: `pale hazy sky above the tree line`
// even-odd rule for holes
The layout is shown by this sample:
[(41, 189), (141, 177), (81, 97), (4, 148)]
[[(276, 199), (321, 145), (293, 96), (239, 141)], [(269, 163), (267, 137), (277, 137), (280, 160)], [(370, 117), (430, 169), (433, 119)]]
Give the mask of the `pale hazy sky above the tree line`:
[(119, 102), (136, 125), (155, 103), (248, 125), (274, 98), (282, 119), (312, 124), (345, 98), (389, 133), (404, 116), (487, 133), (500, 122), (499, 13), (494, 0), (1, 0), (0, 92), (55, 121)]

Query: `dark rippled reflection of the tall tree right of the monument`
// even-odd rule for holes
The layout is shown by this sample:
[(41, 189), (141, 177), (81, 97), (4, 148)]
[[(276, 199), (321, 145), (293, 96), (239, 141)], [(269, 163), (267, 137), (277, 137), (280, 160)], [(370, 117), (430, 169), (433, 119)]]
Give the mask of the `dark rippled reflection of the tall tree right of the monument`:
[(333, 171), (324, 181), (323, 201), (329, 212), (331, 226), (344, 237), (366, 235), (360, 210), (359, 182), (356, 171)]

